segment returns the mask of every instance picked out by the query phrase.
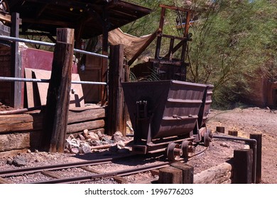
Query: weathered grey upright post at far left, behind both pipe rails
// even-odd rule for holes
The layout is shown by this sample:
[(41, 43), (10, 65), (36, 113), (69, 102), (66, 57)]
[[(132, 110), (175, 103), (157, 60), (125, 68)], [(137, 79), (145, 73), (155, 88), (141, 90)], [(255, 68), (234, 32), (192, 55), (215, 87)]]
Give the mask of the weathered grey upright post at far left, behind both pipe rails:
[[(11, 37), (19, 37), (19, 24), (20, 18), (19, 13), (11, 13)], [(19, 45), (18, 42), (11, 42), (11, 75), (16, 78), (21, 78), (21, 65), (19, 64)], [(14, 108), (21, 108), (22, 97), (21, 97), (22, 82), (11, 83), (11, 106)]]

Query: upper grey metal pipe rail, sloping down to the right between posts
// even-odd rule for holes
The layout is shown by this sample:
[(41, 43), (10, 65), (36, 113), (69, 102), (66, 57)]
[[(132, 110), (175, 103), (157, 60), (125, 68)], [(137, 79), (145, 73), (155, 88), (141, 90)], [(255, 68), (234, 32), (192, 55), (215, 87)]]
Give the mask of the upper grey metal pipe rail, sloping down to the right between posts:
[[(51, 46), (51, 47), (55, 46), (55, 43), (53, 43), (53, 42), (28, 40), (28, 39), (24, 39), (24, 38), (20, 38), (20, 37), (9, 37), (9, 36), (4, 36), (4, 35), (0, 35), (0, 40), (9, 40), (9, 41), (13, 41), (13, 42), (27, 42), (27, 43), (31, 43), (31, 44), (35, 44), (35, 45), (45, 45), (45, 46)], [(78, 49), (74, 49), (74, 52), (77, 52), (77, 53), (80, 53), (80, 54), (92, 55), (94, 57), (102, 57), (102, 58), (105, 58), (105, 59), (109, 59), (109, 57), (107, 55), (104, 55), (104, 54), (97, 54), (97, 53), (94, 53), (94, 52), (87, 52), (87, 51), (78, 50)]]

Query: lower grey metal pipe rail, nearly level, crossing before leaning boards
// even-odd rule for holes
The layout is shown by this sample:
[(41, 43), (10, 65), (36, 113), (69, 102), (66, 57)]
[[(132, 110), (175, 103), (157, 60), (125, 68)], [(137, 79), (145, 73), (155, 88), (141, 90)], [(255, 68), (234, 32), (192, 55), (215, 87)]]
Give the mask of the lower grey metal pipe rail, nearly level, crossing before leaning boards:
[[(14, 77), (2, 77), (0, 81), (22, 81), (22, 82), (35, 82), (35, 83), (49, 83), (50, 79), (34, 79), (34, 78), (14, 78)], [(89, 85), (107, 85), (104, 82), (92, 82), (92, 81), (71, 81), (72, 84), (89, 84)]]

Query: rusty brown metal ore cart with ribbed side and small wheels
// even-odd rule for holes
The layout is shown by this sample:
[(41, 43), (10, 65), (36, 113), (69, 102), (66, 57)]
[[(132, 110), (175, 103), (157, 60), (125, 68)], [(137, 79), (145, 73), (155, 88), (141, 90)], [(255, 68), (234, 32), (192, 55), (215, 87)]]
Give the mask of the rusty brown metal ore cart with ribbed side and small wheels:
[(134, 128), (134, 153), (166, 151), (174, 161), (193, 153), (193, 143), (209, 146), (205, 122), (212, 85), (168, 80), (127, 82), (122, 87)]

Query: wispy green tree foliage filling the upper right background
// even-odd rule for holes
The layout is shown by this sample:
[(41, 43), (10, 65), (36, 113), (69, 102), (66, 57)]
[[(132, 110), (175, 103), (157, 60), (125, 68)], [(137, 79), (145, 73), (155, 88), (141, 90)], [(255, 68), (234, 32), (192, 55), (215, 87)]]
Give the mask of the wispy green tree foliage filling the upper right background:
[[(153, 33), (158, 28), (158, 4), (195, 10), (197, 20), (190, 27), (192, 42), (186, 57), (190, 64), (187, 78), (214, 85), (213, 105), (229, 107), (241, 95), (251, 94), (249, 83), (254, 78), (277, 81), (277, 1), (192, 0), (189, 6), (173, 0), (131, 2), (153, 9), (151, 15), (124, 27), (134, 35)], [(168, 21), (175, 17), (176, 13), (166, 15)], [(165, 32), (175, 35), (173, 26), (165, 27)], [(146, 53), (153, 57), (155, 47), (153, 42)]]

